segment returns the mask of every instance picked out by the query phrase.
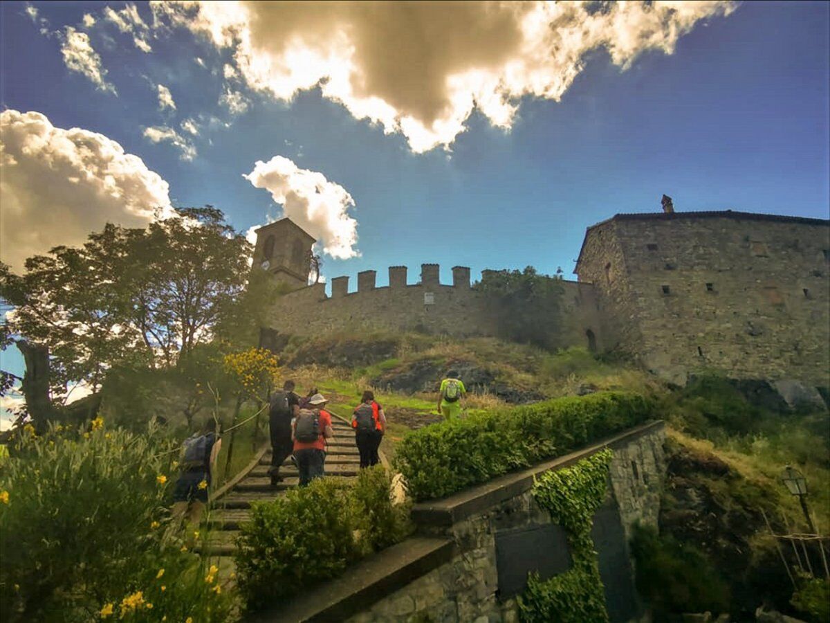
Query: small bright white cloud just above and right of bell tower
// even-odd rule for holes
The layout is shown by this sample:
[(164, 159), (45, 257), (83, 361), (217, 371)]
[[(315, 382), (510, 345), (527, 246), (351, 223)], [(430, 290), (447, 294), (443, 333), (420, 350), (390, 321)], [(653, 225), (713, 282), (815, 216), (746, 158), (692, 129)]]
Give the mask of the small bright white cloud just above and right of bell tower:
[[(268, 162), (257, 160), (251, 173), (242, 175), (258, 189), (266, 189), (284, 216), (300, 225), (323, 244), (323, 251), (335, 259), (359, 255), (357, 224), (349, 216), (354, 199), (339, 184), (325, 175), (300, 169), (290, 159), (274, 156)], [(251, 235), (251, 230), (248, 230)]]

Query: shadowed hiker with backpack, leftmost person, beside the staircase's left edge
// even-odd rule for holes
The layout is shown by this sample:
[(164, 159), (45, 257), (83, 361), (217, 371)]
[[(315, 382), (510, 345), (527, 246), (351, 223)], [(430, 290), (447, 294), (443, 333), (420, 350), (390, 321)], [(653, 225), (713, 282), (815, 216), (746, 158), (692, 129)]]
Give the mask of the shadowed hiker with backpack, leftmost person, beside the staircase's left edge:
[(210, 470), (216, 462), (222, 439), (214, 432), (216, 424), (208, 419), (198, 433), (184, 440), (181, 473), (173, 487), (173, 519), (183, 519), (194, 526), (202, 521), (210, 488)]

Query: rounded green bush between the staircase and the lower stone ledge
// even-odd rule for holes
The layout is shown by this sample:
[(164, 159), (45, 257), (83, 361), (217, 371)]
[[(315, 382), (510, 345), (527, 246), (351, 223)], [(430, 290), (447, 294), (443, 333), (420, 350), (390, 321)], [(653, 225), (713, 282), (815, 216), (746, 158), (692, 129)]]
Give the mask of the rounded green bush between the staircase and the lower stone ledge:
[(271, 503), (253, 505), (237, 545), (237, 584), (249, 610), (339, 576), (349, 564), (408, 534), (408, 508), (393, 506), (390, 478), (376, 466), (357, 483), (319, 478)]

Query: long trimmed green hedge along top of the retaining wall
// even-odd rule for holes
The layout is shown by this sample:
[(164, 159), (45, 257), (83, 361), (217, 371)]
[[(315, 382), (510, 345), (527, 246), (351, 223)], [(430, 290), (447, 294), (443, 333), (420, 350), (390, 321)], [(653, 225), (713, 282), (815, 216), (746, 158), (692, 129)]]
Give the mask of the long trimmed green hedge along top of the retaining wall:
[(408, 433), (395, 449), (394, 463), (413, 498), (442, 498), (566, 454), (653, 415), (652, 400), (629, 392), (476, 413)]

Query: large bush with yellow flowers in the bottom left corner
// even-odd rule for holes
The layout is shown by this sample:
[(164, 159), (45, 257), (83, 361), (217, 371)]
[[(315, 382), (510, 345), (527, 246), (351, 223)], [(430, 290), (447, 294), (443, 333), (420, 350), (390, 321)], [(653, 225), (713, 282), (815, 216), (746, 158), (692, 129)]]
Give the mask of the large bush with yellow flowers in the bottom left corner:
[[(132, 596), (125, 617), (227, 621), (227, 595), (204, 594), (200, 559), (164, 530), (177, 449), (100, 418), (86, 432), (24, 430), (0, 469), (0, 619), (89, 621), (107, 604), (118, 616)], [(168, 591), (151, 581), (163, 568)]]

